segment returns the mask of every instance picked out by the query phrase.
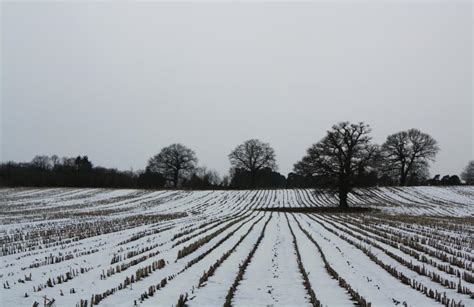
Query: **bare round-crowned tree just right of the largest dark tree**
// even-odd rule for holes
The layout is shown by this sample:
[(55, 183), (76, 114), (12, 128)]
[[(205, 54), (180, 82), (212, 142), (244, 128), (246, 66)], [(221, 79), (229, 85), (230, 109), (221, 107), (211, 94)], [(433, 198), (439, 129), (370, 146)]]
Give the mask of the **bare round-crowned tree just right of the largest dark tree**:
[(434, 161), (438, 151), (436, 140), (417, 129), (389, 135), (382, 145), (385, 167), (399, 173), (401, 186), (407, 184), (408, 175), (417, 165)]

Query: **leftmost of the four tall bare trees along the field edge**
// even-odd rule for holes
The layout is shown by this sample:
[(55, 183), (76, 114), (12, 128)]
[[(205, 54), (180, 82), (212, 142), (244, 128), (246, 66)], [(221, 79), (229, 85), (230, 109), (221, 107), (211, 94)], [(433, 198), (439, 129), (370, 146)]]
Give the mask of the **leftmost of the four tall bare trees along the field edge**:
[(182, 144), (172, 144), (161, 149), (159, 154), (148, 161), (148, 169), (162, 174), (177, 187), (182, 177), (196, 168), (196, 164), (197, 158), (193, 150)]

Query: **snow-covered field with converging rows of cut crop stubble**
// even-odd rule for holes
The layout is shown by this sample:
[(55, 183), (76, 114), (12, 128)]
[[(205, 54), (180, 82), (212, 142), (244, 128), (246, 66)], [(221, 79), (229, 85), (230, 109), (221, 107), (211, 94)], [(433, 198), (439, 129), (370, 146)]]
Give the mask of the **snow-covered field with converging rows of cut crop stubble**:
[(474, 306), (474, 188), (0, 189), (1, 306)]

